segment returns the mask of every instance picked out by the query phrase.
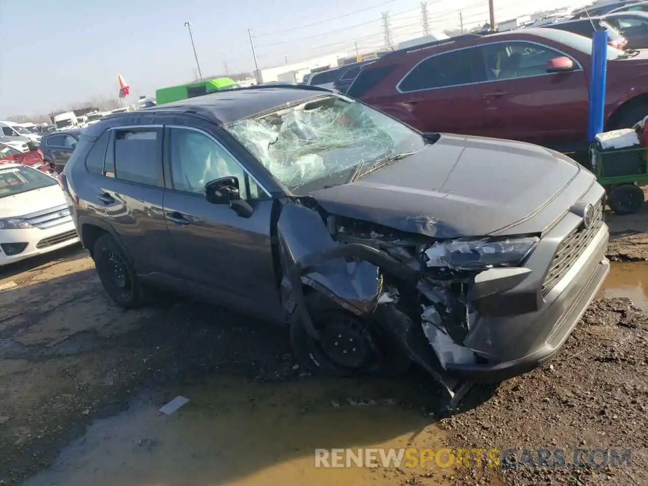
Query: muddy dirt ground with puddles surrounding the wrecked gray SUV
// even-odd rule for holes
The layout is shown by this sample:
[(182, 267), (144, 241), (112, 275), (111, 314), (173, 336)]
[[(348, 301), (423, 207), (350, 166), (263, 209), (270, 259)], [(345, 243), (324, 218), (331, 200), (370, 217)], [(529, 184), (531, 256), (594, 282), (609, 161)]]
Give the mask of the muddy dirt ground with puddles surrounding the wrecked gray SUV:
[[(80, 248), (7, 268), (0, 484), (648, 485), (648, 203), (608, 224), (618, 263), (561, 353), (441, 420), (420, 371), (322, 380), (294, 365), (283, 329), (185, 300), (119, 310)], [(161, 416), (176, 395), (189, 403)], [(519, 467), (313, 466), (315, 448), (371, 446), (517, 449)], [(543, 467), (522, 448), (632, 461)]]

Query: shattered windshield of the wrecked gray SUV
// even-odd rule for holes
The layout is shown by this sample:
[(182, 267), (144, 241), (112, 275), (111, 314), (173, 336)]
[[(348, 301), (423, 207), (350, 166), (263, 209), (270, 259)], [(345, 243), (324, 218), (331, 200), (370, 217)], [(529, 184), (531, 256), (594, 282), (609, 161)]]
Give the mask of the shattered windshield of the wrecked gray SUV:
[(401, 122), (330, 95), (224, 128), (295, 194), (346, 183), (425, 145), (420, 133)]

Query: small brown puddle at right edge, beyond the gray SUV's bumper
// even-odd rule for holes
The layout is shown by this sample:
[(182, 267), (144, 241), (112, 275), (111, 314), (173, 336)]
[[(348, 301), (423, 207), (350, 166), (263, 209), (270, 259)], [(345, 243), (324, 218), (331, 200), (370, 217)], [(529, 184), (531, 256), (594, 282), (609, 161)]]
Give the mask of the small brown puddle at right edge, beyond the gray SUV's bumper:
[(637, 307), (648, 310), (648, 262), (613, 262), (598, 299), (630, 297)]

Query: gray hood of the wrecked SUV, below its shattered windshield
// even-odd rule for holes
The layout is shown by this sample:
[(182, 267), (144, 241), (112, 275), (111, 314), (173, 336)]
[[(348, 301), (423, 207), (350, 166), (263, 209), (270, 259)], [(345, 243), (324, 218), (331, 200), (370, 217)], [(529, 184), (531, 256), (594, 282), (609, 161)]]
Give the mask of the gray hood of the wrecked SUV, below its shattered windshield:
[(435, 238), (480, 237), (537, 213), (580, 170), (537, 145), (443, 134), (375, 174), (310, 195), (340, 216)]

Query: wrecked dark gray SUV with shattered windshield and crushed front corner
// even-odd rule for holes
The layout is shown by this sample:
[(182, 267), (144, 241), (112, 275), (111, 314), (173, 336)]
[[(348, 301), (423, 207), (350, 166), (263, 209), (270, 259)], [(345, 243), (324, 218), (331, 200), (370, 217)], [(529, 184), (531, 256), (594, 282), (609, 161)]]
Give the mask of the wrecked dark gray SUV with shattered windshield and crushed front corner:
[(550, 359), (609, 267), (603, 188), (568, 157), (317, 87), (112, 115), (60, 183), (118, 305), (159, 286), (288, 323), (330, 375), (413, 360), (447, 406)]

